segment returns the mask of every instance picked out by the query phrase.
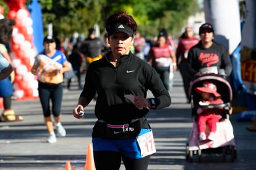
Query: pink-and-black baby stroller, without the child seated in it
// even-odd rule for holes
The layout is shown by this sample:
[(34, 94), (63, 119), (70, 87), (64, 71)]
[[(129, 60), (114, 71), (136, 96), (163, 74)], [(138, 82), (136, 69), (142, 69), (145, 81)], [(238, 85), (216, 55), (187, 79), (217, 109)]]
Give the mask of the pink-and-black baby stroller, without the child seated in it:
[[(217, 92), (220, 93), (223, 104), (208, 104), (205, 106), (198, 104), (202, 97), (195, 92), (195, 87), (202, 87), (203, 82), (205, 81), (212, 82), (216, 85)], [(233, 126), (229, 121), (229, 111), (232, 109), (232, 89), (228, 81), (224, 79), (222, 75), (203, 74), (192, 81), (190, 84), (189, 95), (194, 122), (192, 131), (190, 132), (189, 143), (186, 144), (186, 159), (192, 163), (193, 156), (197, 155), (198, 163), (200, 163), (202, 154), (216, 154), (222, 156), (223, 162), (226, 161), (226, 155), (231, 155), (231, 161), (234, 162), (234, 159), (237, 158), (237, 151)], [(223, 108), (221, 119), (217, 122), (216, 138), (213, 141), (200, 141), (198, 138), (198, 127), (196, 123), (198, 108)]]

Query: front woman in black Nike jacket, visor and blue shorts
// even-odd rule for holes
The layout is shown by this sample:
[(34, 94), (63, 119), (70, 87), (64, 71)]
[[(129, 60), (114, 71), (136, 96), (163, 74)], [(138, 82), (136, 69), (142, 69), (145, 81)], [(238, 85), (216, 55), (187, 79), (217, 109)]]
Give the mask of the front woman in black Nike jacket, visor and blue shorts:
[[(130, 52), (137, 30), (132, 16), (117, 12), (106, 20), (105, 28), (111, 51), (88, 67), (73, 115), (81, 119), (97, 92), (98, 121), (92, 132), (96, 169), (117, 170), (122, 160), (126, 169), (146, 170), (155, 144), (145, 115), (148, 108), (169, 106), (171, 97), (155, 69)], [(147, 98), (147, 90), (154, 98)], [(142, 144), (145, 140), (152, 144), (149, 150)]]

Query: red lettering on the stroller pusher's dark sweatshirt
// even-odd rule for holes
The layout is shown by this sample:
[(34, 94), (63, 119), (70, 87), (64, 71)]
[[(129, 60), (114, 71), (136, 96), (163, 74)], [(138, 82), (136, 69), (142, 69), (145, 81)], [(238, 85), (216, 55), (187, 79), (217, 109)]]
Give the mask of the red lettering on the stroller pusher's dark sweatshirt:
[(210, 67), (219, 62), (219, 56), (214, 53), (200, 53), (198, 60), (201, 61), (201, 66)]

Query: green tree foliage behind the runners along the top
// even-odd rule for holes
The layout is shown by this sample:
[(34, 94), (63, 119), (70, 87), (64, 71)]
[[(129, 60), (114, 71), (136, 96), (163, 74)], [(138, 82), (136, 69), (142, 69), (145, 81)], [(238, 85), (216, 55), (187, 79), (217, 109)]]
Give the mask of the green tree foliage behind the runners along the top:
[[(27, 1), (30, 4), (32, 0)], [(153, 35), (160, 28), (180, 33), (190, 14), (197, 12), (197, 0), (41, 0), (44, 28), (53, 23), (64, 35), (87, 35), (95, 23), (104, 32), (105, 21), (116, 11), (126, 11), (136, 20), (140, 32)]]

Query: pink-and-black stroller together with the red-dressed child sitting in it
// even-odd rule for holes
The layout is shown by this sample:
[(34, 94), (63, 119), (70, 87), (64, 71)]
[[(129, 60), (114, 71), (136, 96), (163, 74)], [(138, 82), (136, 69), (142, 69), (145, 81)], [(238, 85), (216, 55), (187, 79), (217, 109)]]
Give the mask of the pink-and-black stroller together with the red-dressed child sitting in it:
[[(210, 87), (211, 90), (205, 87)], [(202, 101), (202, 91), (205, 90), (213, 94), (215, 100), (211, 96), (212, 103), (209, 101), (207, 103), (205, 99)], [(234, 161), (237, 156), (233, 126), (229, 121), (229, 115), (232, 113), (232, 88), (229, 82), (222, 75), (203, 74), (190, 83), (189, 95), (194, 122), (189, 143), (186, 145), (186, 159), (192, 163), (193, 155), (198, 155), (200, 162), (202, 153), (217, 153), (222, 154), (223, 161), (226, 160), (227, 154), (231, 154), (231, 161)], [(209, 110), (211, 114), (215, 114), (215, 119), (205, 126), (202, 123), (203, 128), (199, 125), (198, 129), (198, 120), (202, 118), (200, 114), (205, 114)], [(205, 137), (203, 135), (200, 137), (200, 132), (205, 132)]]

